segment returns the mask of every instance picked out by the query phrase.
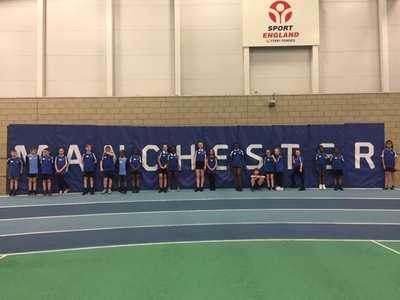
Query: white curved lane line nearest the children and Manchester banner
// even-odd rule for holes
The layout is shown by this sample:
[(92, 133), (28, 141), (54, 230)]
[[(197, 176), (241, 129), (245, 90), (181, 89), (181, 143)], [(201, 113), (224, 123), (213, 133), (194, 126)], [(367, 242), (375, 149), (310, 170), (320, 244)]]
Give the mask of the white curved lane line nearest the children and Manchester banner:
[(400, 197), (228, 197), (228, 198), (181, 198), (181, 199), (141, 199), (126, 201), (87, 201), (87, 202), (62, 202), (62, 203), (42, 203), (42, 204), (21, 204), (21, 205), (3, 205), (0, 208), (18, 208), (18, 207), (46, 207), (46, 206), (74, 206), (74, 205), (95, 205), (95, 204), (116, 204), (116, 203), (146, 203), (146, 202), (180, 202), (180, 201), (229, 201), (229, 200), (400, 200)]

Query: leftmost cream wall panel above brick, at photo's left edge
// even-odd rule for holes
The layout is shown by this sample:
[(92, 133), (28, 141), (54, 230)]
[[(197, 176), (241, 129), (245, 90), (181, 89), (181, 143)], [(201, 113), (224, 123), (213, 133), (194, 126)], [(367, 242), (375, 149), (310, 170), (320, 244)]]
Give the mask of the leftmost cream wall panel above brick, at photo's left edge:
[(36, 1), (0, 1), (0, 96), (36, 93)]

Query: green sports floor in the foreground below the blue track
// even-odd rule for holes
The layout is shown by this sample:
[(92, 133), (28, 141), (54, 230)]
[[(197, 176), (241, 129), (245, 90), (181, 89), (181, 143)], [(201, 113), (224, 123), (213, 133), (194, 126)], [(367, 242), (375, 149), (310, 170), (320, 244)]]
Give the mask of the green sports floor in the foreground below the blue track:
[(372, 242), (254, 241), (9, 256), (0, 297), (395, 300), (399, 254)]

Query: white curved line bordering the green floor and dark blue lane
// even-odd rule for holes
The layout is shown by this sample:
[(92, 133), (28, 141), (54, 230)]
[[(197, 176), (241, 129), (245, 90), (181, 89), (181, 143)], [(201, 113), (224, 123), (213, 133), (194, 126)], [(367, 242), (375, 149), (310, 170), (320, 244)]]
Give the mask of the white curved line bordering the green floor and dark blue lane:
[[(370, 243), (370, 240), (358, 240), (358, 239), (238, 239), (238, 240), (207, 240), (207, 241), (178, 241), (178, 242), (157, 242), (157, 243), (139, 243), (139, 244), (123, 244), (123, 245), (106, 245), (106, 246), (91, 246), (91, 247), (80, 247), (80, 248), (63, 248), (56, 250), (41, 250), (41, 251), (29, 251), (29, 252), (18, 252), (8, 253), (7, 256), (19, 256), (29, 254), (46, 254), (46, 253), (58, 253), (67, 251), (85, 251), (85, 250), (99, 250), (99, 249), (118, 249), (128, 247), (148, 247), (148, 246), (163, 246), (163, 245), (186, 245), (186, 244), (214, 244), (214, 243), (257, 243), (257, 242), (350, 242), (350, 243)], [(400, 243), (400, 240), (382, 240), (381, 242)]]

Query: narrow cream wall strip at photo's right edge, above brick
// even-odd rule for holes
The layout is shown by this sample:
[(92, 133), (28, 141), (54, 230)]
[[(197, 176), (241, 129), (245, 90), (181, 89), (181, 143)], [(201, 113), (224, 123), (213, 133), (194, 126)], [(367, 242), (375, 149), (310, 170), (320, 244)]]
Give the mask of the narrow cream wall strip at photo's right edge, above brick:
[(388, 0), (390, 89), (400, 92), (400, 1)]

